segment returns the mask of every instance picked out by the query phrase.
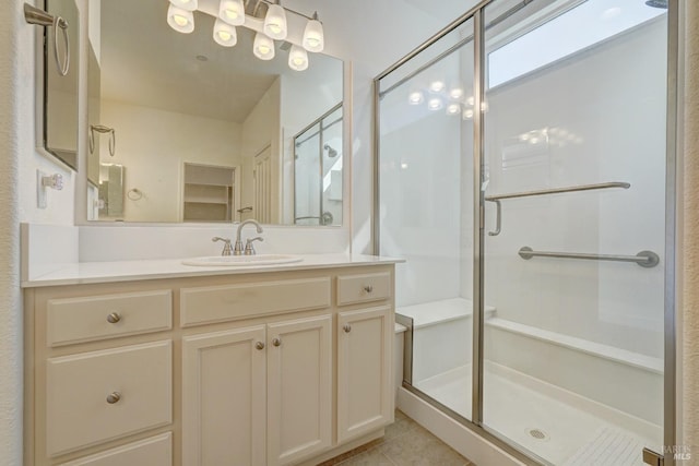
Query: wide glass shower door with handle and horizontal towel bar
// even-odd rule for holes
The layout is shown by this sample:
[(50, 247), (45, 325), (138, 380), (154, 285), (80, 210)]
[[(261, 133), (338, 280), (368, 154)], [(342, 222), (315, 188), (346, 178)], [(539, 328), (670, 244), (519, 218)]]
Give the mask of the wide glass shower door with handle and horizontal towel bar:
[(485, 11), (483, 426), (546, 463), (643, 464), (663, 444), (666, 10), (521, 3)]

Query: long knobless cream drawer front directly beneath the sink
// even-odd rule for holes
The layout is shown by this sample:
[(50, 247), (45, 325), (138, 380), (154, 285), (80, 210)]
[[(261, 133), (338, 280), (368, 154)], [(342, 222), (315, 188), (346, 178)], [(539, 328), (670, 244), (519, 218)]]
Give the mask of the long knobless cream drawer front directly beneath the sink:
[(330, 277), (180, 290), (182, 326), (330, 307)]

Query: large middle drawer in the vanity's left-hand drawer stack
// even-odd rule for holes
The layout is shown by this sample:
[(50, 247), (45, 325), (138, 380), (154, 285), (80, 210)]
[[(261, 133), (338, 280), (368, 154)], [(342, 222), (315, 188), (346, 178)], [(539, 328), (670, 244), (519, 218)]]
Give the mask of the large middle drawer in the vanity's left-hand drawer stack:
[(171, 383), (170, 340), (49, 358), (47, 454), (171, 422)]

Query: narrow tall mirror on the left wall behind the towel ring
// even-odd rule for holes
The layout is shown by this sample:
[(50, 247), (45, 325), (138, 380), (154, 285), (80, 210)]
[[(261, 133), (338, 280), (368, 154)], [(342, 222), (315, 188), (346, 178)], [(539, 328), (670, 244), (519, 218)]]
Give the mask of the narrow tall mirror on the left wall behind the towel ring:
[[(56, 26), (44, 27), (44, 147), (76, 169), (80, 14), (74, 0), (46, 0), (46, 11), (66, 20), (69, 39), (67, 49), (60, 27), (57, 35)], [(67, 57), (68, 72), (62, 75), (59, 67)]]

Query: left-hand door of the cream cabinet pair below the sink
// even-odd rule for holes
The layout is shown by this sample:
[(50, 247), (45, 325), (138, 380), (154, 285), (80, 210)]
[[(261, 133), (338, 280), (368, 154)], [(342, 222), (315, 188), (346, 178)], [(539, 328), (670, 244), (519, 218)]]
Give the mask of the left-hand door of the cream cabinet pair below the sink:
[(264, 325), (182, 338), (182, 465), (265, 464)]

